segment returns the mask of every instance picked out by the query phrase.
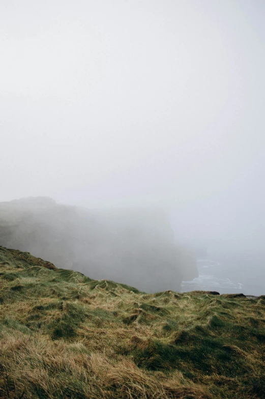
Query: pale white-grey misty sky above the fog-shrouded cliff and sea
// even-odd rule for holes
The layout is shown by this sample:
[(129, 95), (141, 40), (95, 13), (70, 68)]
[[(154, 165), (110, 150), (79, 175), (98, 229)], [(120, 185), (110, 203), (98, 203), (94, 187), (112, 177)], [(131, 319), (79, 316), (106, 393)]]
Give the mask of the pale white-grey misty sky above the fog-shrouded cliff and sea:
[(263, 245), (264, 19), (263, 0), (1, 0), (0, 201), (159, 204), (184, 241)]

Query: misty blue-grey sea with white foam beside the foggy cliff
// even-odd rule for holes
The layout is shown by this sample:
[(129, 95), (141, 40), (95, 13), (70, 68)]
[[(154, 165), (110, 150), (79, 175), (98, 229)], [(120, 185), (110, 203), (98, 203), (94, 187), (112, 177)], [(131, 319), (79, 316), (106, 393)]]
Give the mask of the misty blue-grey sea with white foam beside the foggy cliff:
[(220, 294), (265, 294), (264, 259), (223, 259), (222, 261), (199, 259), (199, 276), (182, 282), (182, 292), (218, 291)]

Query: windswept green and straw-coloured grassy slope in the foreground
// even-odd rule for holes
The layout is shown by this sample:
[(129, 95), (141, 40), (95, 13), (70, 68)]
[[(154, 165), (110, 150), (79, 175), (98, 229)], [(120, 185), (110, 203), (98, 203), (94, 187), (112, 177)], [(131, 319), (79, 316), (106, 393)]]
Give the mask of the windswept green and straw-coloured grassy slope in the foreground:
[(3, 247), (0, 291), (0, 397), (265, 397), (263, 297), (145, 294)]

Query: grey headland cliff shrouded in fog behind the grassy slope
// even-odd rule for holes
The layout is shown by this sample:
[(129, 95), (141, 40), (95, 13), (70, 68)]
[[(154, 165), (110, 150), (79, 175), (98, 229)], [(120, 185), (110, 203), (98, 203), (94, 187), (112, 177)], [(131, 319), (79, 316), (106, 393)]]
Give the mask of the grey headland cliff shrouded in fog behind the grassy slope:
[(179, 291), (197, 275), (192, 254), (175, 247), (154, 209), (92, 211), (42, 197), (0, 203), (0, 245), (148, 292)]

